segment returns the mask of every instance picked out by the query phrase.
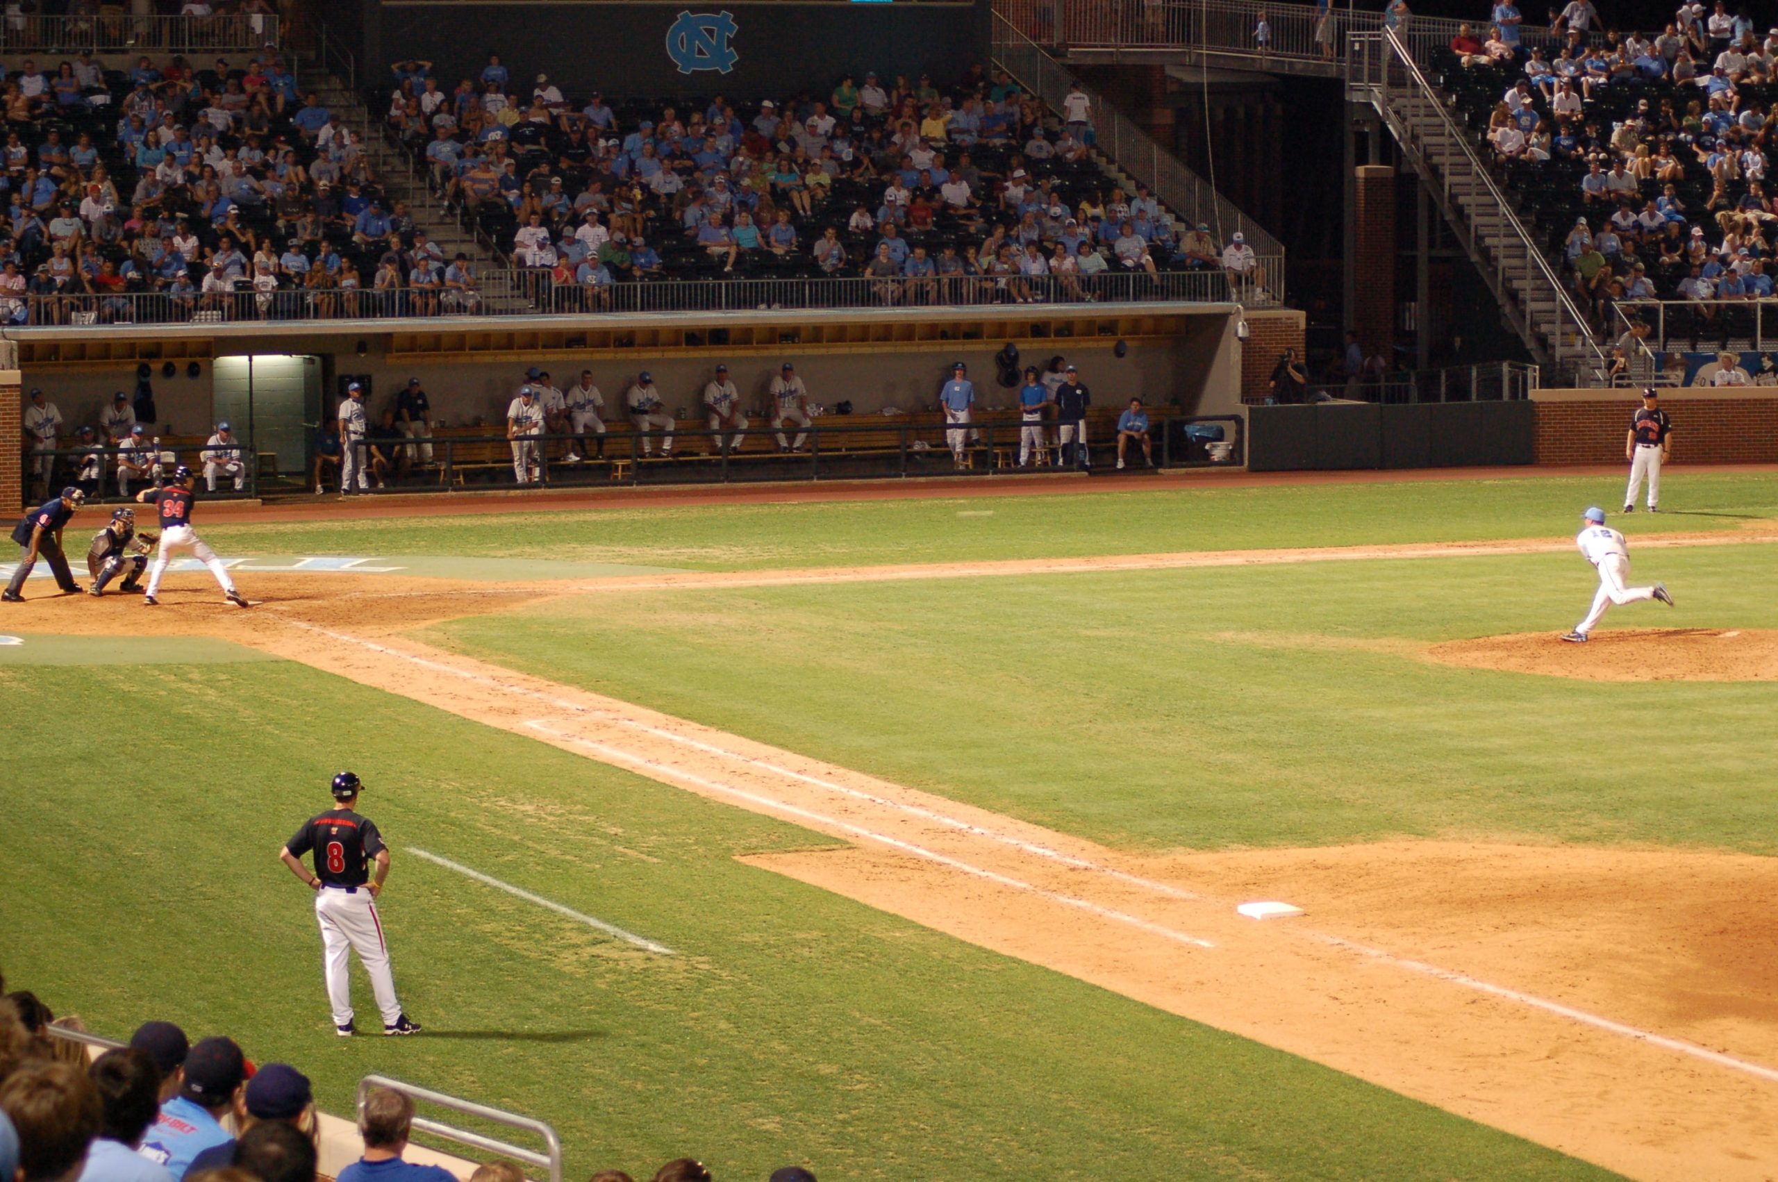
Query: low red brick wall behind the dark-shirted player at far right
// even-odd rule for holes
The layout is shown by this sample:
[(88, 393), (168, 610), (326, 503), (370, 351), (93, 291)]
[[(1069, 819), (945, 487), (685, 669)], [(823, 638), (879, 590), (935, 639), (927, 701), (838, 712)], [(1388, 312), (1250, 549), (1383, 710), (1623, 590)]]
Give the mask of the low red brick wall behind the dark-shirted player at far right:
[[(1673, 419), (1673, 462), (1778, 462), (1778, 396), (1671, 395), (1662, 396), (1661, 403)], [(1641, 400), (1632, 391), (1618, 391), (1606, 400), (1540, 398), (1538, 464), (1623, 462), (1623, 435), (1639, 405)]]

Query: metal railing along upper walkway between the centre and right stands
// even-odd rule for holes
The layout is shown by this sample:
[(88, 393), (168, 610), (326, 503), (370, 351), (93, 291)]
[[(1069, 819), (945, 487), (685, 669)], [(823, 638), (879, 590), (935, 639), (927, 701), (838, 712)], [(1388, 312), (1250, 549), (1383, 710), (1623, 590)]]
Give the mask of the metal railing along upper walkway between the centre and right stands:
[[(1131, 52), (1136, 55), (1177, 53), (1186, 59), (1239, 59), (1266, 69), (1339, 75), (1348, 57), (1348, 34), (1383, 27), (1378, 11), (1266, 0), (996, 0), (994, 11), (1021, 34), (1058, 53), (1074, 50)], [(1259, 16), (1269, 37), (1259, 39)], [(1323, 23), (1325, 18), (1325, 23)], [(1426, 50), (1447, 46), (1469, 25), (1486, 41), (1488, 21), (1456, 21), (1410, 16), (1398, 27), (1408, 48), (1424, 60)], [(1549, 27), (1520, 25), (1520, 43), (1552, 48), (1559, 39)]]

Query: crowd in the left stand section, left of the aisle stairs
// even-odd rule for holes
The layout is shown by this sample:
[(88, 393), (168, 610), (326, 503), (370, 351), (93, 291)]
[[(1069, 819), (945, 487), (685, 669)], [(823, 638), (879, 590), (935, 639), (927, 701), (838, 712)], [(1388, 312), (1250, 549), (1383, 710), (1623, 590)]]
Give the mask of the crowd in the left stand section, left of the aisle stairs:
[(379, 315), (373, 277), (428, 258), (359, 132), (276, 52), (0, 76), (0, 323)]

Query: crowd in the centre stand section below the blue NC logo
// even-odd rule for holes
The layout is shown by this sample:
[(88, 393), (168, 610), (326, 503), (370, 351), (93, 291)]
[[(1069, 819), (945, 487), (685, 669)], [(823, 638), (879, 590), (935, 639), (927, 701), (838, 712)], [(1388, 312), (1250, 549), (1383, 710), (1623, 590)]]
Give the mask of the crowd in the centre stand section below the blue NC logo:
[(1086, 300), (1108, 272), (1264, 283), (1241, 233), (1182, 231), (1104, 172), (1079, 87), (1049, 114), (976, 66), (946, 87), (866, 73), (823, 96), (665, 105), (569, 98), (498, 53), (455, 84), (391, 69), (389, 126), (437, 192), (573, 307), (724, 276), (866, 276), (880, 302)]

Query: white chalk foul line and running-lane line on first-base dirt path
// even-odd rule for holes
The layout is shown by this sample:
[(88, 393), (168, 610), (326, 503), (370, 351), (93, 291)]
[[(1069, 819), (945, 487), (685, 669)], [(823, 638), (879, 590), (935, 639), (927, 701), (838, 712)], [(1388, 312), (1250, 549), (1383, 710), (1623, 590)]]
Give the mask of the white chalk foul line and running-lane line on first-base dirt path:
[[(862, 793), (859, 789), (846, 787), (843, 784), (834, 784), (832, 780), (823, 780), (823, 779), (818, 779), (818, 777), (807, 777), (807, 775), (802, 775), (800, 771), (791, 771), (788, 768), (781, 768), (781, 766), (777, 766), (773, 763), (768, 763), (768, 761), (763, 761), (763, 759), (754, 759), (750, 755), (741, 755), (740, 752), (729, 752), (729, 750), (724, 750), (720, 747), (713, 747), (709, 743), (701, 743), (697, 739), (688, 739), (685, 736), (674, 734), (672, 731), (663, 731), (660, 727), (651, 727), (647, 723), (631, 722), (628, 718), (621, 718), (617, 715), (612, 715), (610, 711), (592, 709), (589, 706), (581, 706), (580, 702), (569, 702), (565, 699), (551, 697), (548, 693), (539, 693), (537, 690), (528, 690), (525, 686), (514, 686), (514, 684), (500, 681), (496, 677), (487, 677), (487, 675), (482, 675), (482, 674), (473, 674), (469, 670), (462, 670), (462, 668), (457, 668), (453, 665), (444, 665), (443, 661), (430, 661), (430, 659), (427, 659), (423, 656), (414, 656), (412, 652), (402, 652), (400, 649), (391, 649), (388, 645), (379, 645), (379, 643), (375, 643), (372, 640), (363, 640), (359, 636), (348, 636), (345, 633), (336, 633), (336, 631), (331, 631), (331, 629), (325, 629), (325, 627), (316, 627), (315, 624), (304, 624), (300, 620), (288, 620), (288, 622), (292, 626), (295, 626), (295, 627), (302, 627), (302, 629), (308, 629), (308, 631), (313, 631), (313, 633), (320, 633), (324, 636), (329, 636), (332, 640), (341, 640), (345, 643), (354, 643), (354, 645), (359, 645), (363, 649), (370, 649), (373, 652), (380, 652), (380, 654), (386, 654), (386, 656), (395, 656), (395, 658), (400, 658), (404, 661), (411, 661), (414, 665), (420, 665), (420, 667), (441, 672), (441, 674), (452, 674), (453, 677), (462, 677), (464, 681), (473, 681), (477, 684), (491, 686), (494, 690), (503, 690), (507, 693), (514, 693), (514, 695), (519, 695), (519, 697), (537, 699), (541, 702), (548, 702), (549, 706), (571, 711), (574, 715), (585, 715), (585, 716), (592, 716), (592, 718), (606, 718), (610, 722), (617, 722), (621, 725), (626, 725), (626, 727), (631, 727), (631, 729), (637, 729), (637, 731), (644, 731), (647, 734), (654, 734), (654, 736), (670, 739), (674, 743), (681, 743), (685, 747), (692, 747), (692, 748), (706, 750), (706, 752), (715, 752), (718, 755), (725, 755), (727, 759), (734, 759), (734, 761), (741, 761), (741, 763), (750, 763), (750, 764), (756, 764), (759, 768), (765, 768), (765, 770), (770, 770), (770, 771), (777, 771), (779, 775), (789, 775), (789, 777), (800, 779), (800, 780), (804, 780), (807, 784), (814, 784), (818, 787), (825, 787), (829, 791), (836, 791), (836, 793), (843, 793), (843, 795), (855, 796), (855, 798), (861, 798), (861, 800), (868, 800), (871, 803), (884, 803), (884, 805), (889, 805), (893, 809), (900, 809), (901, 812), (909, 812), (909, 814), (914, 814), (914, 816), (921, 816), (921, 818), (942, 823), (942, 825), (949, 825), (949, 827), (958, 828), (962, 832), (978, 834), (981, 837), (989, 837), (992, 841), (999, 841), (1003, 844), (1024, 850), (1026, 853), (1033, 853), (1033, 855), (1044, 857), (1044, 859), (1053, 859), (1053, 860), (1061, 862), (1065, 866), (1074, 866), (1077, 869), (1088, 869), (1088, 871), (1104, 875), (1108, 878), (1127, 882), (1131, 885), (1143, 887), (1143, 889), (1152, 890), (1156, 894), (1166, 894), (1166, 896), (1186, 898), (1186, 899), (1202, 898), (1202, 896), (1197, 896), (1197, 894), (1193, 894), (1189, 890), (1182, 890), (1179, 887), (1173, 887), (1173, 885), (1168, 885), (1168, 883), (1163, 883), (1163, 882), (1156, 882), (1152, 878), (1141, 878), (1138, 875), (1129, 875), (1125, 871), (1120, 871), (1120, 869), (1115, 869), (1115, 867), (1109, 867), (1109, 866), (1102, 866), (1099, 862), (1090, 862), (1086, 859), (1076, 859), (1076, 857), (1060, 853), (1056, 850), (1051, 850), (1047, 846), (1028, 843), (1028, 841), (1022, 841), (1019, 837), (1012, 837), (1012, 835), (1006, 835), (1006, 834), (997, 834), (994, 830), (980, 828), (976, 825), (969, 825), (967, 821), (960, 821), (957, 818), (948, 818), (948, 816), (944, 816), (941, 812), (933, 812), (930, 809), (921, 809), (917, 805), (905, 805), (905, 803), (896, 802), (896, 800), (885, 800), (885, 798), (880, 798), (880, 796), (873, 796), (869, 793)], [(526, 725), (535, 727), (539, 731), (548, 731), (541, 722), (530, 722)], [(656, 764), (654, 761), (647, 761), (647, 759), (642, 759), (642, 757), (637, 757), (637, 755), (629, 755), (628, 752), (622, 752), (622, 750), (619, 750), (615, 747), (606, 747), (603, 743), (594, 743), (590, 739), (581, 739), (578, 736), (567, 736), (567, 734), (562, 734), (562, 732), (553, 732), (553, 734), (557, 734), (557, 738), (562, 738), (562, 739), (565, 739), (569, 743), (578, 743), (578, 745), (587, 747), (587, 748), (603, 750), (613, 761), (619, 761), (619, 763), (628, 763), (631, 766), (644, 766), (644, 768), (649, 768), (649, 770), (660, 770), (660, 771), (663, 771), (667, 775), (681, 777), (681, 779), (686, 779), (686, 780), (699, 780), (701, 779), (701, 777), (693, 777), (688, 771), (679, 771), (676, 768), (669, 768), (667, 764)], [(1122, 912), (1109, 912), (1108, 908), (1099, 908), (1095, 903), (1088, 903), (1086, 899), (1076, 899), (1074, 896), (1063, 896), (1063, 894), (1051, 894), (1047, 890), (1042, 890), (1040, 887), (1033, 887), (1029, 883), (1022, 883), (1022, 882), (1019, 882), (1015, 878), (1006, 878), (1003, 875), (994, 875), (992, 871), (983, 871), (980, 867), (967, 866), (967, 864), (957, 862), (953, 859), (946, 859), (944, 855), (933, 853), (930, 850), (921, 850), (919, 846), (912, 846), (909, 843), (901, 843), (901, 841), (896, 841), (893, 837), (869, 834), (868, 830), (862, 830), (862, 828), (859, 828), (855, 825), (848, 825), (846, 821), (830, 819), (830, 818), (820, 818), (818, 814), (807, 812), (804, 809), (797, 809), (795, 805), (786, 805), (786, 803), (775, 802), (775, 800), (772, 800), (768, 796), (756, 796), (752, 793), (743, 793), (743, 791), (729, 787), (725, 784), (713, 784), (709, 780), (702, 780), (702, 782), (708, 787), (711, 787), (713, 791), (720, 791), (720, 793), (727, 793), (727, 795), (733, 795), (733, 796), (740, 796), (743, 800), (750, 800), (750, 802), (761, 803), (761, 805), (765, 805), (768, 809), (775, 809), (775, 811), (781, 811), (781, 812), (800, 814), (804, 818), (816, 818), (816, 819), (821, 819), (823, 823), (836, 825), (836, 827), (845, 828), (848, 832), (857, 832), (859, 835), (871, 837), (873, 841), (880, 841), (880, 843), (889, 844), (889, 846), (903, 848), (909, 853), (916, 853), (919, 857), (928, 857), (928, 859), (932, 859), (935, 862), (941, 862), (941, 864), (946, 864), (946, 866), (953, 866), (955, 869), (960, 869), (960, 871), (969, 873), (969, 875), (976, 875), (976, 876), (983, 876), (983, 878), (989, 878), (989, 880), (1003, 882), (1003, 885), (1010, 885), (1010, 887), (1015, 887), (1015, 889), (1021, 889), (1021, 890), (1033, 890), (1037, 894), (1044, 894), (1044, 896), (1054, 898), (1056, 901), (1067, 903), (1070, 906), (1086, 906), (1086, 908), (1092, 908), (1092, 910), (1101, 910), (1101, 912), (1106, 912), (1111, 917), (1117, 917), (1117, 919), (1122, 919), (1122, 921), (1129, 921), (1129, 922), (1133, 922), (1133, 924), (1136, 924), (1136, 926), (1140, 926), (1143, 930), (1166, 933), (1172, 938), (1181, 938), (1181, 935), (1182, 935), (1182, 933), (1173, 933), (1168, 928), (1161, 928), (1159, 924), (1150, 924), (1149, 921), (1138, 919), (1134, 915), (1124, 915)], [(500, 885), (503, 887), (505, 883), (500, 883)], [(544, 903), (548, 905), (548, 901), (544, 901)], [(549, 906), (553, 906), (553, 905), (549, 905)], [(1360, 956), (1367, 956), (1367, 958), (1376, 960), (1380, 963), (1389, 963), (1389, 965), (1394, 965), (1398, 969), (1405, 969), (1408, 972), (1419, 972), (1419, 974), (1424, 974), (1424, 976), (1430, 976), (1430, 978), (1437, 978), (1437, 979), (1451, 983), (1451, 985), (1460, 985), (1463, 988), (1472, 988), (1476, 992), (1488, 994), (1492, 997), (1499, 997), (1499, 999), (1504, 999), (1504, 1001), (1513, 1001), (1513, 1002), (1518, 1002), (1522, 1006), (1531, 1006), (1533, 1010), (1543, 1010), (1545, 1013), (1554, 1013), (1558, 1017), (1568, 1018), (1572, 1022), (1581, 1022), (1582, 1026), (1591, 1026), (1595, 1029), (1607, 1031), (1611, 1034), (1620, 1034), (1623, 1038), (1634, 1038), (1636, 1042), (1646, 1042), (1646, 1043), (1650, 1043), (1654, 1047), (1662, 1047), (1666, 1050), (1675, 1050), (1678, 1054), (1686, 1054), (1686, 1056), (1691, 1056), (1694, 1059), (1703, 1059), (1703, 1061), (1714, 1063), (1718, 1066), (1726, 1066), (1726, 1068), (1732, 1068), (1732, 1070), (1737, 1070), (1737, 1072), (1746, 1072), (1746, 1074), (1755, 1075), (1758, 1079), (1778, 1082), (1778, 1070), (1773, 1070), (1769, 1066), (1760, 1066), (1758, 1063), (1748, 1063), (1746, 1059), (1737, 1059), (1737, 1058), (1723, 1054), (1719, 1050), (1710, 1050), (1709, 1047), (1698, 1047), (1696, 1043), (1687, 1043), (1687, 1042), (1682, 1042), (1678, 1038), (1668, 1038), (1666, 1034), (1655, 1034), (1652, 1031), (1643, 1031), (1643, 1029), (1638, 1029), (1634, 1026), (1625, 1026), (1623, 1022), (1614, 1022), (1611, 1018), (1600, 1017), (1597, 1013), (1588, 1013), (1586, 1010), (1575, 1010), (1574, 1006), (1565, 1006), (1565, 1004), (1561, 1004), (1558, 1001), (1549, 1001), (1547, 997), (1538, 997), (1536, 994), (1526, 994), (1526, 992), (1520, 992), (1520, 990), (1506, 988), (1502, 985), (1492, 985), (1492, 983), (1483, 981), (1479, 978), (1472, 978), (1472, 976), (1467, 976), (1463, 972), (1453, 972), (1449, 969), (1440, 969), (1437, 965), (1428, 965), (1428, 963), (1419, 962), (1419, 960), (1405, 960), (1401, 956), (1394, 956), (1394, 954), (1385, 953), (1382, 949), (1367, 947), (1364, 944), (1353, 944), (1351, 940), (1342, 940), (1339, 937), (1323, 935), (1323, 933), (1309, 931), (1309, 930), (1300, 930), (1300, 933), (1305, 935), (1305, 937), (1309, 937), (1309, 938), (1319, 940), (1319, 942), (1323, 942), (1323, 944), (1326, 944), (1330, 947), (1339, 947), (1339, 949), (1344, 949), (1344, 951), (1350, 951), (1350, 953), (1357, 953)], [(1182, 938), (1195, 940), (1195, 937), (1182, 937)], [(1207, 944), (1207, 942), (1200, 942), (1200, 944), (1204, 944), (1204, 947), (1211, 947), (1211, 944)]]

